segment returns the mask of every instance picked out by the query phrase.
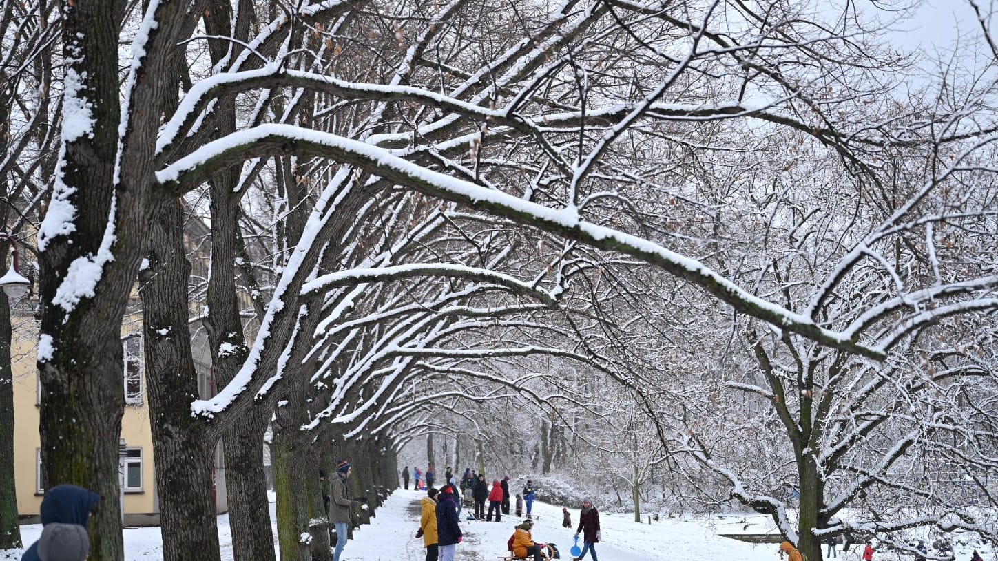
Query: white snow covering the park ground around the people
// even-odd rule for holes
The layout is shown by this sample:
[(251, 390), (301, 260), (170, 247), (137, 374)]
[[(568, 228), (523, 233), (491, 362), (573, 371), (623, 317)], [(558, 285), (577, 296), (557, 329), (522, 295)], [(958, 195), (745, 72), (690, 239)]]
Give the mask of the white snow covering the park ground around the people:
[[(422, 561), (425, 551), (422, 539), (415, 537), (418, 523), (418, 500), (422, 491), (398, 490), (378, 509), (370, 525), (354, 532), (354, 539), (343, 550), (341, 561)], [(469, 508), (461, 513), (466, 517)], [(579, 509), (569, 509), (573, 524), (578, 523)], [(569, 559), (575, 528), (562, 528), (560, 506), (534, 503), (536, 524), (533, 536), (536, 541), (554, 543)], [(273, 504), (270, 504), (273, 518)], [(506, 541), (513, 527), (522, 518), (504, 516), (502, 522), (462, 520), (464, 542), (457, 546), (457, 559), (461, 561), (496, 561), (505, 554)], [(685, 561), (690, 559), (718, 559), (724, 561), (775, 561), (774, 544), (752, 545), (724, 538), (725, 533), (769, 533), (771, 521), (764, 516), (728, 515), (711, 518), (668, 519), (652, 524), (637, 524), (634, 515), (600, 513), (603, 542), (597, 544), (602, 561)], [(32, 543), (41, 534), (40, 524), (21, 526), (26, 543)], [(274, 528), (276, 534), (276, 528)], [(233, 560), (229, 516), (219, 517), (219, 537), (222, 541), (222, 558)], [(580, 544), (581, 545), (581, 544)], [(128, 561), (159, 561), (162, 540), (159, 528), (127, 528), (125, 530), (125, 558)], [(988, 561), (998, 559), (992, 552), (983, 552)], [(5, 557), (6, 554), (6, 557)], [(969, 559), (970, 551), (957, 549), (957, 559)], [(0, 559), (20, 559), (20, 552), (0, 552)], [(878, 559), (896, 559), (894, 555)], [(854, 559), (849, 557), (847, 559)]]

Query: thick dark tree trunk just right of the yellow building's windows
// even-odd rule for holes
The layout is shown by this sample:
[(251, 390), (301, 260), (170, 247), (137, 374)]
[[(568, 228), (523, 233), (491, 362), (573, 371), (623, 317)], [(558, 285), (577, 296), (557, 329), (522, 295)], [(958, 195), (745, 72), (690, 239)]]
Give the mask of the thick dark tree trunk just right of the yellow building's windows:
[(160, 201), (150, 225), (149, 266), (140, 275), (146, 379), (153, 425), (156, 483), (165, 561), (221, 558), (213, 495), (216, 438), (191, 415), (198, 374), (188, 327), (184, 212), (180, 201)]

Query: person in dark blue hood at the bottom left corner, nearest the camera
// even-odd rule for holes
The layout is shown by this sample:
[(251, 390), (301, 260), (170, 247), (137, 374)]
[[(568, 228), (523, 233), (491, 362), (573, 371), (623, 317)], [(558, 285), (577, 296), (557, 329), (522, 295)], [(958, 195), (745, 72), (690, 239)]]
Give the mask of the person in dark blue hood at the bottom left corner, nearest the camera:
[(42, 537), (24, 552), (21, 561), (79, 559), (90, 553), (88, 522), (101, 495), (76, 485), (57, 485), (42, 499)]

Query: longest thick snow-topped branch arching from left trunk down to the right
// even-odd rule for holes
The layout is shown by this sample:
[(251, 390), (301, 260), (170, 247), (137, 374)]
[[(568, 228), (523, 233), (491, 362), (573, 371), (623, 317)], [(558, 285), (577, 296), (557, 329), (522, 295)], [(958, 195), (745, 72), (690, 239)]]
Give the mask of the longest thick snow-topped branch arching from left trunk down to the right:
[(582, 242), (594, 248), (620, 252), (693, 282), (735, 309), (797, 332), (817, 342), (880, 360), (881, 349), (851, 340), (846, 334), (821, 327), (809, 317), (760, 298), (700, 261), (654, 242), (580, 219), (575, 209), (552, 209), (501, 191), (427, 170), (389, 151), (338, 135), (289, 125), (260, 125), (213, 141), (157, 174), (164, 188), (183, 193), (206, 181), (218, 170), (256, 156), (274, 154), (324, 157), (369, 170), (385, 180), (426, 195), (468, 204), (520, 224)]

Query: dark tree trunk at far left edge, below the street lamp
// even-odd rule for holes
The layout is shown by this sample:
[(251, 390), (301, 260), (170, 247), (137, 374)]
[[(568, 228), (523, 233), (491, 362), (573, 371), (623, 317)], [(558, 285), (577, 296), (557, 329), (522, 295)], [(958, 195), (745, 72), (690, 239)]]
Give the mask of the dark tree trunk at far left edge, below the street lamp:
[[(6, 242), (0, 242), (0, 255), (7, 255)], [(10, 308), (7, 294), (0, 290), (0, 550), (21, 548), (14, 485), (14, 378), (10, 343)]]

